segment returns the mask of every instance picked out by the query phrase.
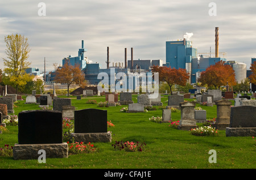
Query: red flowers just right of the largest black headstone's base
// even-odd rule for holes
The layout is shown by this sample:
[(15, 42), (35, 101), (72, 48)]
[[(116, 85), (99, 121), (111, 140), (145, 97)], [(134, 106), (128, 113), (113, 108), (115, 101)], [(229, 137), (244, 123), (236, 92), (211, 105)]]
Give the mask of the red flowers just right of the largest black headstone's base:
[(68, 153), (69, 155), (76, 155), (81, 153), (93, 153), (96, 152), (98, 149), (94, 147), (93, 144), (90, 142), (85, 144), (84, 142), (75, 142), (75, 143), (69, 143), (68, 144)]

